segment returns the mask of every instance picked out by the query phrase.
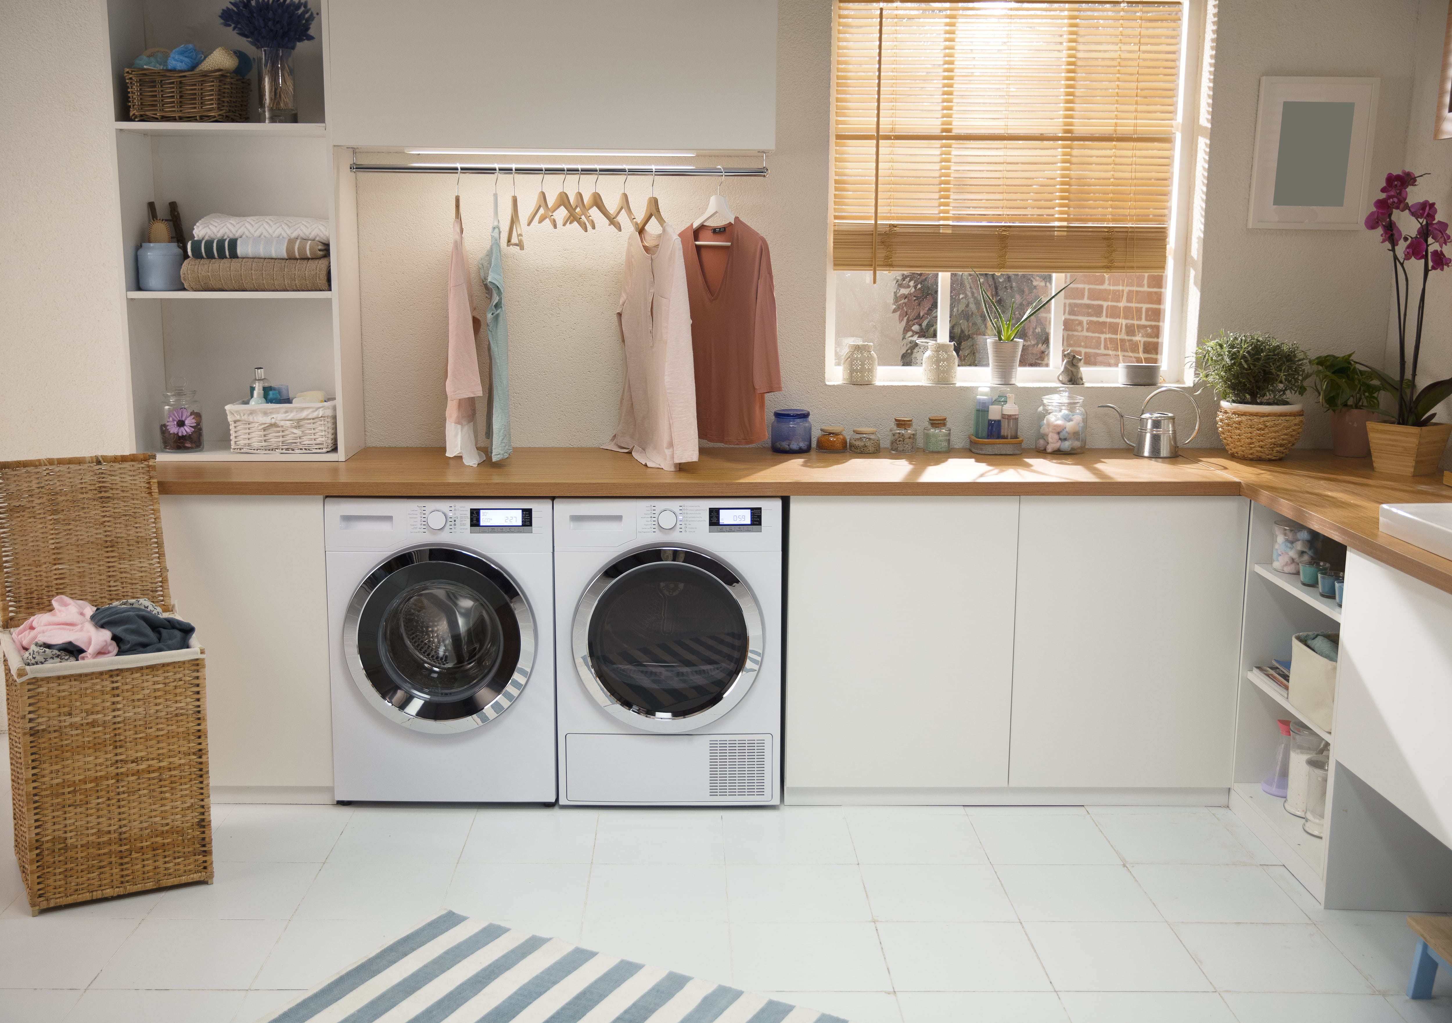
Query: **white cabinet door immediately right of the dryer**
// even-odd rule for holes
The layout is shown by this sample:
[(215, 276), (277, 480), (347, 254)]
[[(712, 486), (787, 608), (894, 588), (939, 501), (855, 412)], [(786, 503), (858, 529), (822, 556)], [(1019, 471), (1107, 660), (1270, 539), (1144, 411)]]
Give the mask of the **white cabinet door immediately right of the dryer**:
[(1008, 784), (1018, 498), (793, 498), (786, 786)]

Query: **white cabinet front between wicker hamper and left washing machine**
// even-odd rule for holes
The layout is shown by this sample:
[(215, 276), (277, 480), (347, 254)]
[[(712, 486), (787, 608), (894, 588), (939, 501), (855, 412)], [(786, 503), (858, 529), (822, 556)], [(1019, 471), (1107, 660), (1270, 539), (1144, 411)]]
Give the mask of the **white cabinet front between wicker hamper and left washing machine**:
[(206, 647), (212, 791), (333, 800), (322, 498), (163, 496), (171, 599)]

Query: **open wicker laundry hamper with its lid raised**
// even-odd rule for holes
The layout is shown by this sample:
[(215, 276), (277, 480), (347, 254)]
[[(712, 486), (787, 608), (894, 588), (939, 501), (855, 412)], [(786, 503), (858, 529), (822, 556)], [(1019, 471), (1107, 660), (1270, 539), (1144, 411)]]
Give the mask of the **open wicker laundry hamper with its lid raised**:
[[(154, 456), (0, 461), (0, 628), (61, 593), (171, 611)], [(28, 667), (0, 646), (30, 914), (211, 882), (202, 649)]]

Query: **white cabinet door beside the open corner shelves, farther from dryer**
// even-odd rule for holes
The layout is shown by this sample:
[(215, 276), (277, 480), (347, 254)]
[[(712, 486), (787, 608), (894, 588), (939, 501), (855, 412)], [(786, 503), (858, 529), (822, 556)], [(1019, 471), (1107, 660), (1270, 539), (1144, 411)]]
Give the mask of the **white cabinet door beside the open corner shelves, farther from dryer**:
[(1230, 785), (1249, 502), (1024, 498), (1009, 784)]

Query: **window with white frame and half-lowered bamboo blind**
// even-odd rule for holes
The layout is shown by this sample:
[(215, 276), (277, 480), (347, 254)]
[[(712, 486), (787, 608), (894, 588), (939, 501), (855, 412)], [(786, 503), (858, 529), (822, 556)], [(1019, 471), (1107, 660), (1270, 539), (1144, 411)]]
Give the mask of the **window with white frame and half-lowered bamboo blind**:
[(1089, 380), (1121, 361), (1179, 380), (1214, 0), (838, 0), (835, 16), (828, 380), (845, 338), (906, 383), (941, 337), (960, 382), (984, 382), (968, 271), (1019, 309), (1067, 284), (1019, 335), (1021, 380), (1053, 380), (1064, 350)]

